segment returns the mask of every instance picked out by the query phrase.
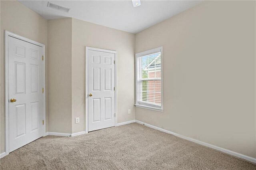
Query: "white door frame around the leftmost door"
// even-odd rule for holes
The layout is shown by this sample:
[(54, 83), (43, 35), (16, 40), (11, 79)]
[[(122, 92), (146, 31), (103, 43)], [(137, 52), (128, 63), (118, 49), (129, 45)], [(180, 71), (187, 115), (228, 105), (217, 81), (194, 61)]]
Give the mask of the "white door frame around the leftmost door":
[[(4, 30), (4, 51), (5, 51), (5, 68), (4, 68), (4, 71), (5, 71), (5, 78), (4, 78), (4, 81), (5, 81), (5, 93), (4, 93), (4, 102), (5, 102), (5, 111), (4, 111), (4, 114), (5, 114), (5, 153), (6, 155), (9, 154), (9, 73), (8, 73), (8, 70), (9, 70), (9, 54), (8, 54), (8, 43), (9, 43), (9, 38), (8, 37), (13, 37), (13, 38), (17, 38), (19, 40), (22, 40), (22, 41), (25, 41), (25, 42), (28, 42), (28, 43), (32, 43), (34, 45), (38, 45), (40, 47), (43, 48), (43, 55), (44, 55), (44, 61), (43, 61), (43, 85), (42, 87), (44, 87), (45, 89), (45, 45), (42, 44), (42, 43), (38, 43), (38, 42), (35, 42), (33, 40), (30, 40), (28, 38), (25, 38), (25, 37), (22, 37), (22, 36), (19, 36), (17, 34), (14, 34), (12, 32), (8, 32), (6, 30)], [(44, 125), (43, 125), (43, 136), (46, 136), (46, 106), (45, 106), (45, 92), (43, 93), (43, 119), (44, 119)]]

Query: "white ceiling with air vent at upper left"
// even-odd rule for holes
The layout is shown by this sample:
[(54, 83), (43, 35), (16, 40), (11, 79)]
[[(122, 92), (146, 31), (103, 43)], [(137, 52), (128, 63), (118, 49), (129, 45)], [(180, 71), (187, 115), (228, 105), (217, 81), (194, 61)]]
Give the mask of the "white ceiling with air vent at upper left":
[(134, 8), (131, 0), (50, 0), (54, 4), (71, 8), (69, 13), (47, 7), (47, 0), (19, 2), (46, 19), (70, 17), (136, 34), (202, 1), (147, 0)]

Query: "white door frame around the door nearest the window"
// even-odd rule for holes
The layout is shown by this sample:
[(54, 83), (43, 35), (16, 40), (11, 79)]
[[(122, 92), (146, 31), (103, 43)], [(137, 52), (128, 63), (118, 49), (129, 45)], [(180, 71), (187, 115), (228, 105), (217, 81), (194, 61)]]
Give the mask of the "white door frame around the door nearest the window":
[(108, 49), (100, 49), (94, 47), (86, 47), (86, 69), (85, 69), (85, 117), (86, 117), (86, 125), (85, 125), (85, 132), (88, 133), (88, 51), (101, 51), (106, 53), (113, 53), (115, 55), (115, 126), (117, 125), (117, 76), (116, 76), (116, 59), (117, 59), (117, 52), (108, 50)]

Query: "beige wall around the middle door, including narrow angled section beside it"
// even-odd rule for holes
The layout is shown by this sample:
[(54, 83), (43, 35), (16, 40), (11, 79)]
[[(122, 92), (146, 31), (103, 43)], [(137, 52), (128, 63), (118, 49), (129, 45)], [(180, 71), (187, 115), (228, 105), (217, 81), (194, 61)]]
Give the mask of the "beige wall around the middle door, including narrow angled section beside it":
[(48, 20), (48, 46), (49, 132), (85, 131), (86, 46), (117, 51), (118, 123), (135, 119), (134, 34), (73, 18)]

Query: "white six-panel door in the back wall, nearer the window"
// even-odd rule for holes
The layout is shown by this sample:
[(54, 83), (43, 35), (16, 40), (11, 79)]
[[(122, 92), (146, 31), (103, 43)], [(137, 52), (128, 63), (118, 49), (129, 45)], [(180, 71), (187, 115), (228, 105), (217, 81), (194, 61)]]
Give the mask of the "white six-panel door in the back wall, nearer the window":
[(115, 126), (114, 53), (88, 50), (88, 131)]

